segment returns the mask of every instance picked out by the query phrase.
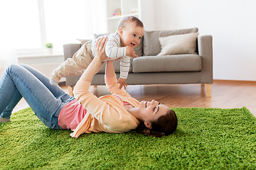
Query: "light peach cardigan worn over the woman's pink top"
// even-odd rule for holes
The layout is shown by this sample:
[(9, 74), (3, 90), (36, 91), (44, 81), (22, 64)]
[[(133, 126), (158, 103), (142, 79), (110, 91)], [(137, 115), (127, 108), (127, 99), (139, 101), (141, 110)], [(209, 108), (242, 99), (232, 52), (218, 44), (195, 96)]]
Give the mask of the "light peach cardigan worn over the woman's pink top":
[(122, 102), (127, 101), (137, 108), (139, 101), (132, 98), (124, 89), (118, 89), (116, 76), (105, 77), (105, 84), (112, 95), (100, 98), (90, 93), (90, 82), (80, 79), (75, 85), (74, 96), (85, 107), (87, 113), (75, 131), (70, 134), (71, 137), (78, 138), (85, 132), (128, 132), (139, 125), (139, 120), (124, 108)]

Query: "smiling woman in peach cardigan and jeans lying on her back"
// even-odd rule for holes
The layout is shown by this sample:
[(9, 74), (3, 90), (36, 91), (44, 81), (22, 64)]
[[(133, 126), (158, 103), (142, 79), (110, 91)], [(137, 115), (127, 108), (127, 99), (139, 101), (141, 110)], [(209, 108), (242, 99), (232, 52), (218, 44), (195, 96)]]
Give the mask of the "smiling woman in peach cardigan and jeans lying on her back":
[(49, 83), (35, 69), (11, 65), (0, 79), (0, 122), (10, 120), (11, 111), (21, 97), (35, 115), (51, 129), (70, 129), (71, 137), (84, 132), (128, 132), (136, 129), (146, 134), (169, 135), (177, 127), (174, 111), (157, 101), (139, 102), (119, 89), (112, 61), (107, 61), (105, 82), (112, 95), (97, 98), (89, 88), (101, 63), (107, 59), (107, 38), (97, 41), (96, 55), (75, 86), (74, 96)]

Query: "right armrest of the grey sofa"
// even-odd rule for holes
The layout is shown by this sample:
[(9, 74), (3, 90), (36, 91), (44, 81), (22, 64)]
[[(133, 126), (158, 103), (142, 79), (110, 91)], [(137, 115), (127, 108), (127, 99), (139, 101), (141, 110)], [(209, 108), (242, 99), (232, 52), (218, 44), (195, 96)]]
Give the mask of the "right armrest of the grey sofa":
[(201, 83), (213, 83), (213, 37), (198, 36), (198, 55), (202, 57)]

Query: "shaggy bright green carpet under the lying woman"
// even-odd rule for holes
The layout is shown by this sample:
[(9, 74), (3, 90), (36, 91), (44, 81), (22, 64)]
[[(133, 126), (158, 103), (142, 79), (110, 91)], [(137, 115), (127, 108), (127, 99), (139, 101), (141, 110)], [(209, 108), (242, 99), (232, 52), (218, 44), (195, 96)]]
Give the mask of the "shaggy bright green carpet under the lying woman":
[(50, 130), (30, 108), (0, 124), (0, 169), (255, 169), (256, 119), (247, 108), (174, 108), (167, 137)]

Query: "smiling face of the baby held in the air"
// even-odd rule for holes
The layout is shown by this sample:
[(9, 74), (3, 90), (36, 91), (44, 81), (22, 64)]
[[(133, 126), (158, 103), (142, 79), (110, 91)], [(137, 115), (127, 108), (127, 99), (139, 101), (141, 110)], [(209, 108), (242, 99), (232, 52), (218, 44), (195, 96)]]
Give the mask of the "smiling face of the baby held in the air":
[(144, 28), (136, 26), (136, 23), (129, 22), (125, 24), (125, 28), (119, 29), (122, 47), (127, 45), (130, 47), (137, 47), (142, 36), (144, 35)]

